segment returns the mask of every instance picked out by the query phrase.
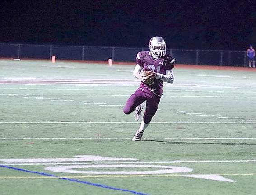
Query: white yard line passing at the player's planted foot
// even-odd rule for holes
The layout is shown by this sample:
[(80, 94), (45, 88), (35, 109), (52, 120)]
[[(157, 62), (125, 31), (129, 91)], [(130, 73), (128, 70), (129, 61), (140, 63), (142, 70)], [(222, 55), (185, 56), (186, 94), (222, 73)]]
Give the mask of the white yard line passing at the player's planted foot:
[[(66, 139), (66, 140), (126, 140), (130, 138), (0, 138), (0, 140), (58, 140), (58, 139)], [(251, 139), (254, 140), (256, 138), (143, 138), (143, 140), (239, 140), (239, 139)]]

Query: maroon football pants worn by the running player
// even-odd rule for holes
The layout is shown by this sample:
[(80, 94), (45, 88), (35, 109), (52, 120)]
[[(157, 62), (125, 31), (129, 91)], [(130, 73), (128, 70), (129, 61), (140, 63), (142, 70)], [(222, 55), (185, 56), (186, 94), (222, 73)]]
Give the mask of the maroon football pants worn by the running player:
[(130, 114), (137, 106), (146, 101), (146, 110), (144, 112), (143, 121), (148, 124), (158, 109), (160, 99), (161, 96), (153, 93), (149, 89), (139, 87), (126, 101), (123, 111), (125, 114)]

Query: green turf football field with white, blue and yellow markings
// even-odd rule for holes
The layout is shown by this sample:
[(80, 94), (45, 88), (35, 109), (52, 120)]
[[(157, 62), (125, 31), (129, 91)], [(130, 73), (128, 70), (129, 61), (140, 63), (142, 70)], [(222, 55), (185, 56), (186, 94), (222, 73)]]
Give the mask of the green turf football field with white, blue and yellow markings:
[(256, 76), (174, 69), (140, 142), (132, 65), (0, 61), (0, 195), (254, 195)]

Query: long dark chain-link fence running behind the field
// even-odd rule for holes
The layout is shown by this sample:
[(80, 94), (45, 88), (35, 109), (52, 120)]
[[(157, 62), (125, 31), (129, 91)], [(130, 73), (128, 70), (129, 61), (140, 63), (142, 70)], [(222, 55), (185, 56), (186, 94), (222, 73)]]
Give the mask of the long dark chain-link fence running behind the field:
[[(148, 48), (58, 46), (0, 43), (1, 58), (35, 58), (60, 60), (135, 62), (139, 51)], [(167, 53), (177, 59), (178, 64), (247, 66), (246, 51), (180, 50), (170, 49)]]

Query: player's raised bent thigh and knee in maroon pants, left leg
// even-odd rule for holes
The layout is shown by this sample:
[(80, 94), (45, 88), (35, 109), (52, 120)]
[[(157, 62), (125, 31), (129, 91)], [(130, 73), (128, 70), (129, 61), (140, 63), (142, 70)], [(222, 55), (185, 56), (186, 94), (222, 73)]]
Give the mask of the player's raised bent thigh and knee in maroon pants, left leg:
[(130, 114), (131, 112), (135, 111), (136, 107), (142, 104), (146, 100), (144, 96), (145, 96), (144, 93), (141, 92), (140, 90), (137, 90), (135, 91), (135, 93), (131, 94), (130, 98), (128, 98), (128, 100), (126, 101), (126, 105), (123, 108), (124, 113)]

